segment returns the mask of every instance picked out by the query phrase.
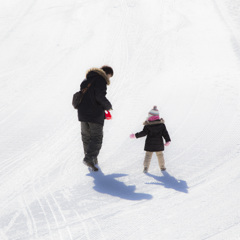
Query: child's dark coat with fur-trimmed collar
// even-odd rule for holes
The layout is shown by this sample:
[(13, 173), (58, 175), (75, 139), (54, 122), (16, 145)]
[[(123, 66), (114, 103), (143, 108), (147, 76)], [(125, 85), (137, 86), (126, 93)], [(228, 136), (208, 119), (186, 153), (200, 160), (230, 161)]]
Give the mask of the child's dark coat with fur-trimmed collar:
[(141, 132), (135, 134), (136, 138), (147, 136), (144, 150), (148, 152), (164, 151), (163, 138), (166, 142), (171, 141), (164, 121), (145, 121)]

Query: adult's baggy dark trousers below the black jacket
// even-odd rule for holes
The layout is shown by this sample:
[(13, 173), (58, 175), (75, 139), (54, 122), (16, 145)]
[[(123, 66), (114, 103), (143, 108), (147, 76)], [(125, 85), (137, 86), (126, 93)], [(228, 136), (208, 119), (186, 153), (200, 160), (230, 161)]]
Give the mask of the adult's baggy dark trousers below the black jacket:
[(102, 147), (103, 125), (91, 122), (81, 122), (81, 135), (84, 149), (84, 161), (94, 162)]

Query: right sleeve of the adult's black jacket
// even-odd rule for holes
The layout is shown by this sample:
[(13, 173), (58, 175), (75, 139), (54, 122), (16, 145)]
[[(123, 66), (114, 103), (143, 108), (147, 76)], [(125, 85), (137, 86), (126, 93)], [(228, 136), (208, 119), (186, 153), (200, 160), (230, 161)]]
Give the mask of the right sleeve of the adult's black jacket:
[(95, 97), (97, 102), (103, 107), (104, 110), (112, 109), (112, 104), (106, 98), (107, 85), (104, 79), (97, 79), (95, 81)]

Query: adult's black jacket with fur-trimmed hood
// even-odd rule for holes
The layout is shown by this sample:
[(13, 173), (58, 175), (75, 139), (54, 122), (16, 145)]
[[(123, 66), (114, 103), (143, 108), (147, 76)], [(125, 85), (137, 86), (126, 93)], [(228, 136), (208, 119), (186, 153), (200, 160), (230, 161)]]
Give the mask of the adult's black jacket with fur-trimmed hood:
[(92, 68), (87, 72), (80, 89), (86, 88), (89, 83), (91, 86), (78, 108), (78, 120), (103, 125), (105, 110), (112, 109), (112, 104), (106, 98), (107, 85), (110, 84), (110, 80), (102, 69)]

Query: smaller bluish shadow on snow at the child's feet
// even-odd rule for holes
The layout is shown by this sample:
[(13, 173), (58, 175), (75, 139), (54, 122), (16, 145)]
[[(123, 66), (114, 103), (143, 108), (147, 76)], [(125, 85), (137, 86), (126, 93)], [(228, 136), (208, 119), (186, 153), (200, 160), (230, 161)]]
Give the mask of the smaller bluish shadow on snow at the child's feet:
[(184, 180), (177, 180), (175, 177), (171, 176), (168, 172), (162, 172), (163, 176), (156, 176), (150, 173), (146, 173), (147, 176), (154, 178), (158, 182), (151, 182), (146, 184), (157, 184), (162, 185), (165, 188), (172, 188), (179, 192), (188, 193), (188, 185)]

